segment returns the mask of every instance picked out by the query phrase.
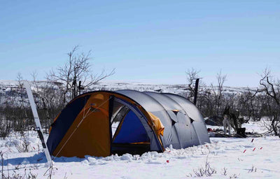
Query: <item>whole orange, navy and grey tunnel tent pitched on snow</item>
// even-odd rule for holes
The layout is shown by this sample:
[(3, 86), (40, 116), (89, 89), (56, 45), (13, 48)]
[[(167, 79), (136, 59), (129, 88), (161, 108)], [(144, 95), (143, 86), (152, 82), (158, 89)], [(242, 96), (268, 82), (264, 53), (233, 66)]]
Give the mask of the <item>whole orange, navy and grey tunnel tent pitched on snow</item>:
[(57, 115), (47, 141), (55, 157), (163, 152), (210, 143), (196, 106), (176, 94), (118, 90), (77, 96)]

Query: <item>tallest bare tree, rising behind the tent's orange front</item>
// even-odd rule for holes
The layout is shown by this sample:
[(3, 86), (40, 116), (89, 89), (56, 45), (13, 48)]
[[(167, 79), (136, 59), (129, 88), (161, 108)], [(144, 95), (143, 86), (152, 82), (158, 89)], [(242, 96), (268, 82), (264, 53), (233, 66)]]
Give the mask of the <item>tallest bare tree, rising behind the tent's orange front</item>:
[[(69, 96), (73, 99), (76, 97), (83, 87), (91, 87), (100, 80), (112, 76), (115, 69), (106, 73), (102, 70), (101, 73), (92, 73), (90, 64), (90, 53), (77, 54), (78, 45), (69, 52), (68, 60), (63, 66), (59, 66), (56, 70), (50, 71), (47, 74), (47, 79), (59, 87), (62, 95), (62, 104), (65, 106)], [(67, 96), (67, 94), (70, 94)]]

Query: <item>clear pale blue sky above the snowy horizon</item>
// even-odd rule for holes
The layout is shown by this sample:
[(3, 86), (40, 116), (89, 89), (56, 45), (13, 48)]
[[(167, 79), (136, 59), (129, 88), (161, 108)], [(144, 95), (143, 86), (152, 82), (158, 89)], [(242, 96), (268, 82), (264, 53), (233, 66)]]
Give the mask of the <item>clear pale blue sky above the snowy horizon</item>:
[(280, 78), (280, 1), (0, 0), (0, 80), (38, 80), (92, 50), (107, 80), (184, 84), (195, 69), (206, 84), (257, 87), (270, 68)]

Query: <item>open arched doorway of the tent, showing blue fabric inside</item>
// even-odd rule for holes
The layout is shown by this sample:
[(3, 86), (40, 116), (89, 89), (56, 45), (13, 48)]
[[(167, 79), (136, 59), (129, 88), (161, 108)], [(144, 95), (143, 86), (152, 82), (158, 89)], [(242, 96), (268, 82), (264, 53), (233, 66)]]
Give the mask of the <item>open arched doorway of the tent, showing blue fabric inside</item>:
[(141, 155), (150, 151), (150, 138), (139, 116), (130, 107), (114, 101), (111, 118), (112, 154)]

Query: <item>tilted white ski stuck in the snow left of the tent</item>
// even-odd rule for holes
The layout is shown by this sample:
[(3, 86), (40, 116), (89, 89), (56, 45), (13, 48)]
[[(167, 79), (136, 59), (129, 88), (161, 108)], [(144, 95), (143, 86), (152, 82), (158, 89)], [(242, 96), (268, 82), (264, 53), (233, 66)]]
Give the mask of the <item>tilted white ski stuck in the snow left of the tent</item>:
[(27, 96), (28, 96), (28, 99), (29, 99), (29, 102), (30, 102), (31, 110), (32, 110), (32, 113), (33, 113), (33, 116), (34, 116), (34, 121), (35, 121), (35, 124), (36, 124), (36, 131), (38, 132), (38, 136), (41, 139), (41, 142), (42, 142), (42, 145), (43, 145), (43, 150), (45, 152), (45, 157), (47, 158), (49, 166), (52, 166), (52, 159), (50, 158), (50, 152), (48, 152), (48, 147), (47, 147), (47, 144), (45, 143), (45, 139), (43, 137), (43, 131), (42, 131), (41, 123), (40, 123), (39, 116), (38, 116), (38, 113), (37, 113), (34, 97), (33, 97), (33, 94), (31, 92), (31, 87), (30, 87), (28, 81), (26, 81), (26, 80), (23, 81), (23, 84), (25, 85), (25, 89), (27, 90)]

